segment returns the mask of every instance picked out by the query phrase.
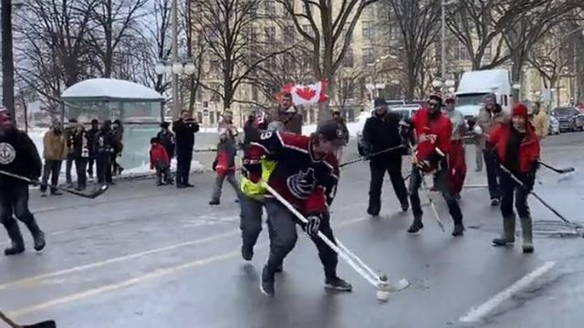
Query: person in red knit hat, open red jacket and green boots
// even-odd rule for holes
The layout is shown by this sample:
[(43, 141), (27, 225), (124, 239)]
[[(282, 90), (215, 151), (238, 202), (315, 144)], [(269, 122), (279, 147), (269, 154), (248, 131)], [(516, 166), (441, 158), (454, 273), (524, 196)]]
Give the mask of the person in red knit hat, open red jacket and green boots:
[[(503, 235), (493, 240), (494, 246), (505, 246), (515, 242), (515, 220), (513, 198), (521, 220), (523, 234), (523, 252), (533, 252), (533, 232), (531, 230), (531, 213), (527, 204), (527, 195), (533, 189), (539, 159), (539, 140), (535, 128), (527, 119), (527, 107), (523, 104), (513, 108), (510, 122), (498, 124), (489, 136), (489, 142), (495, 145), (496, 158), (508, 172), (501, 172), (501, 214), (503, 215)], [(513, 174), (523, 182), (521, 187), (511, 177)]]

